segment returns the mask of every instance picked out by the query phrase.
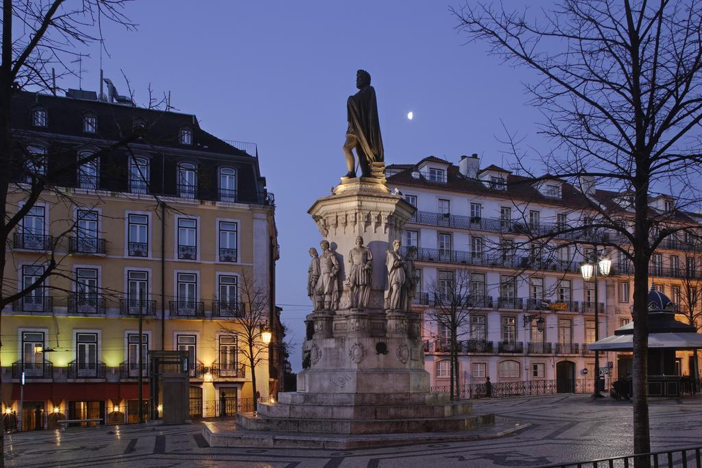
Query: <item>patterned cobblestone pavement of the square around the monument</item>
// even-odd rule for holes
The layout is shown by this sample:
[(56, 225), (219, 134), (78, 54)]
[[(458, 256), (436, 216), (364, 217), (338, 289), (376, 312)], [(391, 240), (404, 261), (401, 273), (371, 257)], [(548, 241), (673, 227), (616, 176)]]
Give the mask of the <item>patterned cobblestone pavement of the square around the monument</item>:
[[(478, 401), (533, 426), (503, 439), (361, 450), (210, 448), (201, 424), (98, 427), (6, 436), (10, 467), (536, 467), (631, 453), (631, 403), (589, 396)], [(702, 446), (702, 399), (651, 403), (654, 450)]]

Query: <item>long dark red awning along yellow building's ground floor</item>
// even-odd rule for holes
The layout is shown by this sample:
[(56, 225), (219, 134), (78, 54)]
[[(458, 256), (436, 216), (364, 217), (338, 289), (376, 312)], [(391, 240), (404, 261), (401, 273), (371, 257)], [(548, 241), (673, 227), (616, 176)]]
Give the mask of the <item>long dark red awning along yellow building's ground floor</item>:
[[(20, 399), (20, 384), (12, 385), (12, 399)], [(122, 399), (137, 399), (138, 388), (134, 383), (107, 382), (72, 382), (72, 383), (27, 383), (25, 384), (25, 401), (104, 401), (113, 402)], [(144, 397), (149, 395), (149, 385), (144, 384)]]

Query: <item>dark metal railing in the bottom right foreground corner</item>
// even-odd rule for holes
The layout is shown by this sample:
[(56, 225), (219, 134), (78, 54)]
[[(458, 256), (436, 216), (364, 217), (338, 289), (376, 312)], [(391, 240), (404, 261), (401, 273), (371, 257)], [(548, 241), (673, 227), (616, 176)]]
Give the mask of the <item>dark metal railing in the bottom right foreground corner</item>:
[(638, 455), (625, 455), (623, 457), (601, 458), (600, 460), (589, 460), (587, 462), (549, 464), (539, 468), (628, 468), (633, 467), (635, 462), (636, 466), (650, 466), (656, 468), (702, 468), (702, 447), (678, 448), (676, 450), (665, 450), (664, 452), (651, 452)]

